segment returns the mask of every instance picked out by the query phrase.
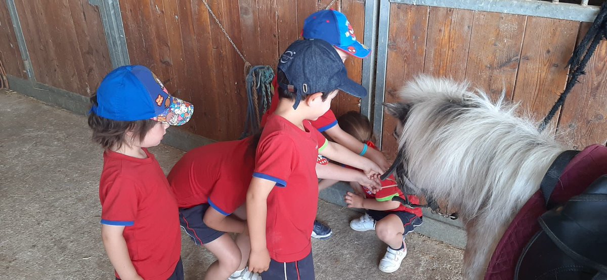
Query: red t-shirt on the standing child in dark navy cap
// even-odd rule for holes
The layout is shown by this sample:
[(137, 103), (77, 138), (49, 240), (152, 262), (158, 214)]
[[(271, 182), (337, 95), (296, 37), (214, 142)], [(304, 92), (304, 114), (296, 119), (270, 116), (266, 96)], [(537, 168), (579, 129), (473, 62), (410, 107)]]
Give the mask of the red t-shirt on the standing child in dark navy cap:
[(276, 182), (268, 195), (266, 243), (277, 262), (304, 259), (318, 206), (316, 157), (328, 145), (309, 121), (302, 131), (279, 115), (271, 115), (257, 145), (253, 177)]

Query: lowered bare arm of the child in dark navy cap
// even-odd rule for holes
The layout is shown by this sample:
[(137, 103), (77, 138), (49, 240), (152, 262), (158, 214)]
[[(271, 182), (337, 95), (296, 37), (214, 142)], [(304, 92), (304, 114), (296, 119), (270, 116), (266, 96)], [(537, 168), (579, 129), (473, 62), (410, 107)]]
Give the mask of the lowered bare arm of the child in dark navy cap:
[(246, 192), (246, 220), (251, 236), (251, 254), (249, 270), (262, 273), (270, 267), (270, 253), (266, 244), (266, 216), (268, 214), (268, 195), (276, 182), (257, 177), (251, 179)]

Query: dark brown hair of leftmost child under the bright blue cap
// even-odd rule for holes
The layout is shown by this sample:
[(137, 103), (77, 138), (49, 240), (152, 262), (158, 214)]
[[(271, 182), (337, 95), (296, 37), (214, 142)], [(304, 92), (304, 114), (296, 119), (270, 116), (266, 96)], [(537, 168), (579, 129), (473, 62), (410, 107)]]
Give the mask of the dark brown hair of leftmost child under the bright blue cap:
[[(97, 106), (97, 95), (90, 97), (90, 103)], [(135, 140), (142, 141), (148, 131), (158, 122), (155, 120), (117, 121), (100, 117), (95, 112), (90, 112), (89, 127), (93, 130), (93, 142), (98, 143), (104, 149), (121, 148), (126, 143), (126, 132), (131, 131)]]

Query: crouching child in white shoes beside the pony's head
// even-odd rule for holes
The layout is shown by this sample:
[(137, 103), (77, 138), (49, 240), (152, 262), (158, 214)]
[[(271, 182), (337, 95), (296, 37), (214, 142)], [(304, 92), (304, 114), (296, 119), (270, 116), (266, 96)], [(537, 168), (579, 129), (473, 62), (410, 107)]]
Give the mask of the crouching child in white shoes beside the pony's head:
[[(360, 142), (373, 145), (373, 128), (371, 123), (358, 112), (348, 112), (339, 117), (339, 124), (344, 131), (356, 137)], [(321, 185), (325, 182), (321, 182)], [(345, 203), (351, 208), (367, 209), (359, 219), (350, 222), (350, 228), (356, 231), (375, 230), (378, 238), (388, 245), (385, 256), (379, 262), (379, 270), (392, 273), (401, 266), (402, 259), (407, 255), (407, 245), (404, 236), (413, 231), (414, 227), (422, 224), (422, 211), (420, 208), (410, 209), (400, 202), (392, 201), (392, 197), (404, 194), (396, 186), (394, 176), (382, 181), (382, 189), (373, 194), (365, 186), (351, 182), (356, 193), (348, 192)], [(415, 196), (407, 196), (412, 203), (419, 203)]]

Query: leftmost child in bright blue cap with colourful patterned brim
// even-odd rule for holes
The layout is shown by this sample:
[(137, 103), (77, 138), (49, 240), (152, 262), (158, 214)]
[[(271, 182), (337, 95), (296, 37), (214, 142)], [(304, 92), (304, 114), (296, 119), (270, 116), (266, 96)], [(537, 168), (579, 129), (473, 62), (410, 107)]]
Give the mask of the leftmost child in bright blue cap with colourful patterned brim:
[(101, 237), (117, 279), (183, 279), (177, 203), (149, 147), (192, 104), (172, 97), (144, 66), (123, 66), (101, 81), (89, 126), (104, 149), (99, 183)]

